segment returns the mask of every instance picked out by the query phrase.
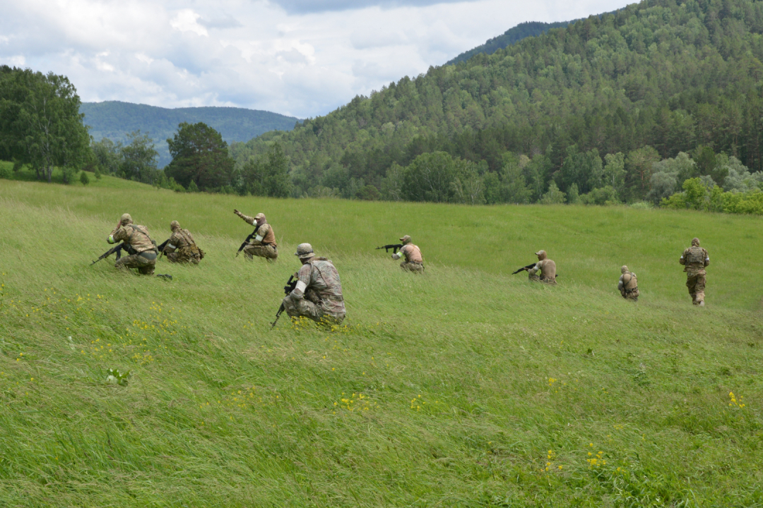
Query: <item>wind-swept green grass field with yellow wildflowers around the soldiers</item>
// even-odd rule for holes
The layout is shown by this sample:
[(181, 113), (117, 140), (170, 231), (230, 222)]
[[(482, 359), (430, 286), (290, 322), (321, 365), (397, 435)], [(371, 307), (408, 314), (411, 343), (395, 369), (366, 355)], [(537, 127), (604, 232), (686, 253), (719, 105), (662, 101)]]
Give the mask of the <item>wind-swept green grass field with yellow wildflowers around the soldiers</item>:
[[(759, 218), (99, 184), (0, 180), (0, 506), (763, 506)], [(275, 264), (234, 257), (233, 208)], [(208, 257), (90, 266), (123, 212)], [(425, 276), (373, 251), (406, 233)], [(301, 241), (340, 271), (338, 331), (269, 331)], [(540, 248), (555, 288), (510, 275)]]

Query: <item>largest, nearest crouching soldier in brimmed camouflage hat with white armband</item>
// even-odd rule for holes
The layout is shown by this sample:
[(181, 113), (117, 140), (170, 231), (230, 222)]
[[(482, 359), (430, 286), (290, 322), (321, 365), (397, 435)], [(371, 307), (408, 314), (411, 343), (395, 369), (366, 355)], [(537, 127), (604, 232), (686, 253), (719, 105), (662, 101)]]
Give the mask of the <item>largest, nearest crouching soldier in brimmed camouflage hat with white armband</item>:
[(330, 260), (314, 257), (311, 244), (299, 244), (295, 256), (302, 267), (297, 287), (283, 301), (292, 318), (306, 316), (316, 322), (340, 324), (345, 315), (342, 282)]

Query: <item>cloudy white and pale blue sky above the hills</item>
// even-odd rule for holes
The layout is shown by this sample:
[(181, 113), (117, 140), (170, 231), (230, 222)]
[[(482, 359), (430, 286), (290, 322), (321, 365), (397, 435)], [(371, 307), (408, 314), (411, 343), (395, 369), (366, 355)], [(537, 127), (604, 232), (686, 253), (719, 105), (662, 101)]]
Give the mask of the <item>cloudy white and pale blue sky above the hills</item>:
[(523, 21), (623, 0), (0, 0), (0, 64), (66, 75), (84, 102), (299, 118), (426, 73)]

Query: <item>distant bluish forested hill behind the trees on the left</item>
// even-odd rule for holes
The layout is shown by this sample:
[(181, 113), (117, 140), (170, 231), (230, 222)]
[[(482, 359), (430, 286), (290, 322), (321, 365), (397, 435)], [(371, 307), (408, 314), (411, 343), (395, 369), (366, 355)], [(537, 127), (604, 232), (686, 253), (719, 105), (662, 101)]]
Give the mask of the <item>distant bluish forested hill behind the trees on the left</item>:
[(121, 101), (85, 102), (79, 111), (85, 113), (85, 125), (90, 126), (90, 134), (96, 141), (108, 138), (125, 142), (127, 133), (138, 129), (149, 133), (159, 152), (159, 168), (172, 160), (166, 139), (175, 134), (179, 123), (204, 122), (217, 129), (230, 143), (249, 141), (270, 130), (291, 130), (300, 121), (296, 117), (241, 107), (168, 109)]

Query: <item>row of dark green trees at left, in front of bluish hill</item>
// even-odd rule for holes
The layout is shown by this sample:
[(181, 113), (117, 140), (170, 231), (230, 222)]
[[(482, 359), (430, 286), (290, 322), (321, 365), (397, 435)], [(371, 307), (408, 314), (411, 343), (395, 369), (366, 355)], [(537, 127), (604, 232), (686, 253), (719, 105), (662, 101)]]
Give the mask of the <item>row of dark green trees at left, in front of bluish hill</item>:
[[(110, 174), (178, 191), (288, 196), (287, 160), (277, 143), (240, 165), (227, 142), (205, 123), (180, 123), (167, 139), (172, 161), (157, 168), (158, 152), (148, 133), (136, 130), (127, 142), (89, 136), (76, 88), (66, 76), (0, 66), (0, 160), (14, 171), (29, 167), (38, 180), (51, 181), (53, 169), (66, 184), (80, 170)], [(80, 175), (83, 184), (87, 174)]]

